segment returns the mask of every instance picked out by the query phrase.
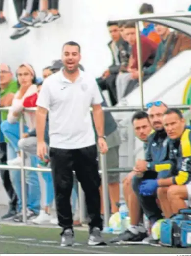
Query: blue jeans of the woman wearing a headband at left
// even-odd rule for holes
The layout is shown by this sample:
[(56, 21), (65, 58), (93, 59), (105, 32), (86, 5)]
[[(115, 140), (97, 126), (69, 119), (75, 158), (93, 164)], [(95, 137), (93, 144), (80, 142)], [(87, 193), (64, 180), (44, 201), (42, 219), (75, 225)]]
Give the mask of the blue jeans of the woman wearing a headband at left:
[[(7, 144), (7, 159), (11, 160), (17, 156), (18, 141), (19, 141), (19, 123), (10, 124), (8, 121), (4, 121), (1, 124), (1, 129), (4, 136), (9, 140)], [(28, 127), (24, 126), (24, 132), (28, 131)], [(31, 157), (31, 163), (33, 167), (36, 167), (37, 161), (36, 157)], [(40, 211), (40, 199), (41, 191), (38, 179), (38, 174), (36, 171), (26, 171), (26, 194), (27, 194), (27, 208), (39, 213)], [(10, 171), (10, 179), (15, 192), (18, 196), (18, 211), (22, 209), (22, 197), (21, 197), (21, 172), (19, 170)]]

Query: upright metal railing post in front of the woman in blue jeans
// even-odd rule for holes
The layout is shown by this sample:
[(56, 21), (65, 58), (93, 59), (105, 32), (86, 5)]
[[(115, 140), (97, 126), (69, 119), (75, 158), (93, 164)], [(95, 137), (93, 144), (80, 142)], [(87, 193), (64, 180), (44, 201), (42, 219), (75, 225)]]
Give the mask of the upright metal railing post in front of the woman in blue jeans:
[[(21, 118), (19, 121), (19, 133), (20, 138), (22, 137), (24, 131), (24, 121), (23, 114), (21, 114)], [(21, 153), (21, 196), (22, 196), (22, 213), (23, 213), (23, 223), (27, 223), (26, 217), (26, 178), (25, 178), (25, 170), (24, 170), (24, 152), (20, 150)]]

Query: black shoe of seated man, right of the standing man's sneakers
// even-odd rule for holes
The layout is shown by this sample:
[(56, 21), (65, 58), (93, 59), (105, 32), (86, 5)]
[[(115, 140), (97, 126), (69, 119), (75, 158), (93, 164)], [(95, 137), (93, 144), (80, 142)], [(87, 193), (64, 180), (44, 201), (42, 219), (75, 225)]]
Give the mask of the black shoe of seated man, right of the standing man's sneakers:
[(125, 232), (111, 239), (110, 243), (141, 242), (146, 237), (147, 237), (146, 233), (139, 232), (138, 234), (134, 234), (127, 229)]

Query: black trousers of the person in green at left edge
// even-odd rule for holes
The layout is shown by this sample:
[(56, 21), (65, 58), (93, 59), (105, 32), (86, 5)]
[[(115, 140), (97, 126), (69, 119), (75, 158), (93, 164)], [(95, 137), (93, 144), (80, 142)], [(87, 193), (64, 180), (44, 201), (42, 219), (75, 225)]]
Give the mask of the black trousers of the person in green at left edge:
[[(6, 143), (2, 142), (0, 143), (0, 153), (1, 153), (1, 159), (0, 162), (2, 164), (6, 164), (7, 157), (6, 157)], [(10, 198), (9, 202), (9, 210), (10, 211), (16, 211), (17, 209), (17, 195), (14, 191), (14, 188), (12, 186), (10, 176), (9, 176), (9, 170), (1, 170), (0, 176), (3, 182), (3, 186)]]

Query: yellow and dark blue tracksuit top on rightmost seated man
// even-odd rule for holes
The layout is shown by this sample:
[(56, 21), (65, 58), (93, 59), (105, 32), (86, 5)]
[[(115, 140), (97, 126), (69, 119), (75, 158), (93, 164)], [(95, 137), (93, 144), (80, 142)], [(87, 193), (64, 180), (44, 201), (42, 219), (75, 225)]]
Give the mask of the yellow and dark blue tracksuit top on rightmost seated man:
[(185, 127), (181, 137), (170, 140), (170, 159), (176, 163), (173, 183), (184, 185), (191, 182), (191, 129)]

